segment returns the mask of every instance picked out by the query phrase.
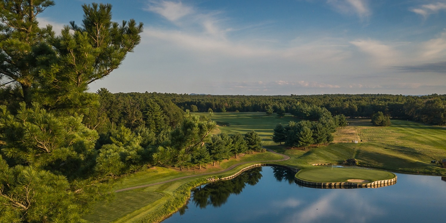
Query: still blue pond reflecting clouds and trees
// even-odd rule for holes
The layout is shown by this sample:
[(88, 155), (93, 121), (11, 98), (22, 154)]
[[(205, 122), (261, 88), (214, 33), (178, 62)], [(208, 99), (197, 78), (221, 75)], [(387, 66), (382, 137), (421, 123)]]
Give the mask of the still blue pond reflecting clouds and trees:
[(294, 173), (258, 167), (192, 190), (186, 206), (163, 223), (446, 222), (446, 181), (397, 173), (392, 186), (315, 189)]

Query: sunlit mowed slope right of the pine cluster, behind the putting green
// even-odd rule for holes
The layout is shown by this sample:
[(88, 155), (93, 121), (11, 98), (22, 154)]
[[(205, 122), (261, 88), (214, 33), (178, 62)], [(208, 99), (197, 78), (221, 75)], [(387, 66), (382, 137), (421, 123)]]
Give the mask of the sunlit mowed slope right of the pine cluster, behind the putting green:
[(335, 143), (330, 145), (300, 151), (277, 146), (274, 150), (291, 157), (284, 163), (299, 168), (355, 158), (359, 165), (377, 169), (446, 175), (446, 169), (430, 162), (446, 158), (446, 128), (402, 120), (392, 120), (390, 127), (372, 126), (370, 120), (349, 122), (350, 126), (335, 132)]

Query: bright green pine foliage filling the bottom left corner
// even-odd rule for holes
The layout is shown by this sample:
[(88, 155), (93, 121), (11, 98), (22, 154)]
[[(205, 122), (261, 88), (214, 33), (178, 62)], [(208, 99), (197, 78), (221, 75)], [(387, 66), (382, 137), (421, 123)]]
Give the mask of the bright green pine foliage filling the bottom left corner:
[(64, 176), (33, 166), (11, 168), (1, 156), (0, 169), (0, 222), (82, 222), (85, 207)]

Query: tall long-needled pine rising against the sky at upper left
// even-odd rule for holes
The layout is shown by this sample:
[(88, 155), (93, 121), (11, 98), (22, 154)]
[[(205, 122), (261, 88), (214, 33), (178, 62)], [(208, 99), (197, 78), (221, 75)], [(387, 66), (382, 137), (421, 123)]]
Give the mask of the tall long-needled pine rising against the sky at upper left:
[(140, 42), (142, 24), (112, 22), (110, 4), (83, 5), (82, 25), (71, 22), (57, 37), (51, 26), (39, 28), (37, 22), (53, 1), (0, 4), (0, 77), (11, 83), (5, 91), (20, 88), (11, 93), (21, 92), (16, 97), (27, 106), (38, 101), (48, 110), (83, 114), (96, 100), (86, 92), (88, 84), (118, 68)]

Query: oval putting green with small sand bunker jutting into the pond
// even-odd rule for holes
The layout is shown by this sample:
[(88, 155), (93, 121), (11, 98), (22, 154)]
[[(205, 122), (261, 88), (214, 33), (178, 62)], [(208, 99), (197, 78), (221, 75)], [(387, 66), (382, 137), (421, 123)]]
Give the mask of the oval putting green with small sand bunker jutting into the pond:
[(376, 170), (376, 169), (359, 169), (348, 167), (317, 167), (311, 169), (303, 169), (296, 173), (296, 178), (308, 182), (356, 182), (369, 183), (380, 180), (388, 180), (395, 178), (395, 174)]

